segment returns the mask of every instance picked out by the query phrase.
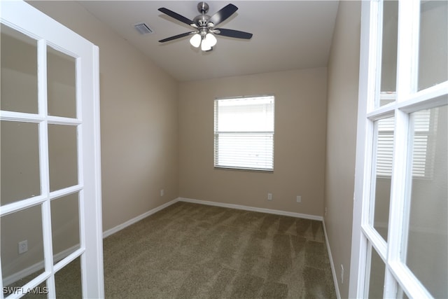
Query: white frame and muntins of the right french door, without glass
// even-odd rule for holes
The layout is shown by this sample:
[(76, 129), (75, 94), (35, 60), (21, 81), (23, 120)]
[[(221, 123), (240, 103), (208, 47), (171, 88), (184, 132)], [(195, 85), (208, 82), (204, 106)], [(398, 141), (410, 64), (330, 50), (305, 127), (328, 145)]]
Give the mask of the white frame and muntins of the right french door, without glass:
[[(412, 112), (447, 105), (448, 81), (430, 88), (417, 90), (420, 1), (399, 1), (397, 87), (394, 103), (375, 107), (376, 82), (381, 63), (382, 1), (362, 1), (360, 34), (360, 74), (358, 92), (358, 132), (356, 141), (355, 190), (353, 198), (353, 230), (349, 298), (365, 297), (365, 284), (370, 263), (370, 250), (376, 250), (383, 259), (386, 272), (384, 298), (395, 298), (402, 288), (415, 298), (432, 298), (400, 258), (403, 235), (407, 231), (409, 194), (407, 193), (406, 165), (409, 163), (409, 115)], [(438, 97), (438, 99), (437, 99)], [(387, 242), (373, 230), (369, 219), (374, 151), (374, 121), (395, 116), (391, 206)], [(400, 153), (396, 155), (395, 153)], [(409, 169), (408, 169), (409, 172)], [(372, 244), (372, 247), (370, 246)]]

